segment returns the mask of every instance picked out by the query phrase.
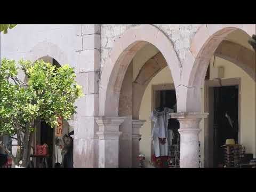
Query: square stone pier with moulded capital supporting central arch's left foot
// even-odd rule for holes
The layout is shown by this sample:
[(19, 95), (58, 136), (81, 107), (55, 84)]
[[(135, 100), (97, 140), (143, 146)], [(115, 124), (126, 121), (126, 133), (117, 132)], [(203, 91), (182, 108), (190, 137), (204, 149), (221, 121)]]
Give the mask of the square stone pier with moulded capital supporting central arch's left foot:
[(99, 167), (118, 168), (119, 125), (124, 117), (95, 117), (99, 125)]

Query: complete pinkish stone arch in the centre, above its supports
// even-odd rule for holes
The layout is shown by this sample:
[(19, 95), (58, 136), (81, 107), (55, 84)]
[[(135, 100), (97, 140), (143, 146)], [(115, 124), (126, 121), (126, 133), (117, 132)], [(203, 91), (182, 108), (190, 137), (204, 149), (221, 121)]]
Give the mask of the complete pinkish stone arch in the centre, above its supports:
[(174, 84), (180, 84), (181, 65), (170, 39), (152, 25), (129, 29), (116, 39), (103, 67), (99, 85), (99, 116), (118, 115), (119, 94), (127, 67), (137, 51), (147, 43), (153, 44), (163, 54)]

